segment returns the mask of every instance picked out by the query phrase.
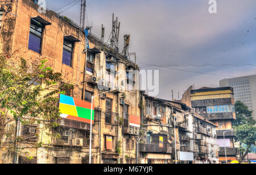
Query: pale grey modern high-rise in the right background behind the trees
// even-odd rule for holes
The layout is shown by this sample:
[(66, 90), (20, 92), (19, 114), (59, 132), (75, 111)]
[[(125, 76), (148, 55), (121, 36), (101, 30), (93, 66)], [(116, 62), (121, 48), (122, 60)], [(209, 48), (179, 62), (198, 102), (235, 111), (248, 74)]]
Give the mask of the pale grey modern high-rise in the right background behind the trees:
[(256, 119), (256, 75), (220, 80), (220, 87), (226, 86), (233, 87), (234, 100), (245, 103)]

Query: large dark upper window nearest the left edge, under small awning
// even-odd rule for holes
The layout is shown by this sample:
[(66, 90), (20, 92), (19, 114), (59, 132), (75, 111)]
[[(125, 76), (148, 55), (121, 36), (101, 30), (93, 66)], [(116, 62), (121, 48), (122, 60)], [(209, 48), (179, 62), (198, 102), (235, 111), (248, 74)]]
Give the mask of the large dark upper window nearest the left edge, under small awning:
[(31, 19), (28, 49), (41, 53), (42, 36), (43, 36), (43, 24), (36, 21), (35, 19)]

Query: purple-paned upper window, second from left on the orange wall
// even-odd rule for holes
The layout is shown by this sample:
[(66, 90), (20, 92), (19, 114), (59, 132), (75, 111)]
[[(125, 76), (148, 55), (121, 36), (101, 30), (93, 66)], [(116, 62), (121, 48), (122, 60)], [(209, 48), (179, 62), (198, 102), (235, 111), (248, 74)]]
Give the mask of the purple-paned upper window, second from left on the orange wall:
[(73, 55), (73, 42), (64, 38), (62, 63), (65, 65), (71, 66), (72, 55)]

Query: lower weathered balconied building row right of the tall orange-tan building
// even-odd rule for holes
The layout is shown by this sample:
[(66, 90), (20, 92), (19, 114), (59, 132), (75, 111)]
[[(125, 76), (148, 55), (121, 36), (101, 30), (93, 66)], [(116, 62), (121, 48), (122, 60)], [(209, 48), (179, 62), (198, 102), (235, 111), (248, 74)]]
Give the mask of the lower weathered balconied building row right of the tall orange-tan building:
[(191, 113), (184, 103), (150, 97), (143, 92), (141, 98), (141, 163), (218, 163), (215, 124)]

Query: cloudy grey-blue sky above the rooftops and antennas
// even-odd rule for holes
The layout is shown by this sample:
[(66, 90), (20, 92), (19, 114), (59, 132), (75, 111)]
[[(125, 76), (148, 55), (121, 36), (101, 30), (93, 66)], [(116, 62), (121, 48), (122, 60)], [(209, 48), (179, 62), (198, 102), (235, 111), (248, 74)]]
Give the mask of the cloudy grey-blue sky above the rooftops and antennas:
[[(46, 0), (47, 9), (80, 22), (80, 0)], [(77, 2), (77, 3), (76, 3)], [(111, 32), (112, 13), (121, 22), (123, 35), (130, 34), (129, 52), (137, 53), (141, 69), (159, 70), (159, 98), (177, 99), (189, 86), (218, 87), (224, 78), (256, 74), (256, 1), (217, 0), (210, 14), (208, 0), (87, 0), (86, 26), (105, 41)], [(75, 4), (72, 6), (73, 4)], [(188, 66), (188, 65), (222, 66)], [(224, 66), (225, 64), (254, 64)], [(158, 65), (151, 66), (149, 65)], [(159, 67), (160, 65), (160, 67)], [(163, 68), (163, 66), (176, 65)], [(178, 66), (177, 66), (178, 65)], [(180, 67), (182, 66), (182, 67)]]

